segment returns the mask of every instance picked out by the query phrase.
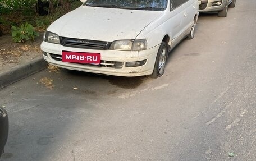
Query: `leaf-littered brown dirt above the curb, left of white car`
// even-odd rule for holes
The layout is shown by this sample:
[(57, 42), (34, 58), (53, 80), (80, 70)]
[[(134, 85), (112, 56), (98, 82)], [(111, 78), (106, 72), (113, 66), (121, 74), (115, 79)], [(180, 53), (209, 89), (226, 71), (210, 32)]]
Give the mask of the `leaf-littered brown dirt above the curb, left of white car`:
[(0, 72), (8, 71), (12, 67), (22, 65), (42, 56), (40, 43), (43, 33), (35, 39), (35, 42), (14, 43), (10, 34), (0, 37)]

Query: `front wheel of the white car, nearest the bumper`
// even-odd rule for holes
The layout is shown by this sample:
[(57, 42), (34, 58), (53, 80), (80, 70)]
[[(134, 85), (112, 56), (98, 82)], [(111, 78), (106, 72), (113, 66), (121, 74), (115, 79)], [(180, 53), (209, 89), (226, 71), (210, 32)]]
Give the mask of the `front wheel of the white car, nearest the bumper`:
[(162, 42), (157, 52), (153, 73), (150, 77), (156, 79), (163, 75), (168, 53), (167, 51), (168, 48), (166, 42)]

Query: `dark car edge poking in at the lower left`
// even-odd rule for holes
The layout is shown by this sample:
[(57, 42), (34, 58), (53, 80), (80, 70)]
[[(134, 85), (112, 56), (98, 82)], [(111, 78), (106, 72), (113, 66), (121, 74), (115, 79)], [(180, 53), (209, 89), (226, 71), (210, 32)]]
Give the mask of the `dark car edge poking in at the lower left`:
[(7, 141), (8, 129), (9, 122), (7, 112), (2, 107), (0, 107), (0, 157), (3, 153), (3, 149)]

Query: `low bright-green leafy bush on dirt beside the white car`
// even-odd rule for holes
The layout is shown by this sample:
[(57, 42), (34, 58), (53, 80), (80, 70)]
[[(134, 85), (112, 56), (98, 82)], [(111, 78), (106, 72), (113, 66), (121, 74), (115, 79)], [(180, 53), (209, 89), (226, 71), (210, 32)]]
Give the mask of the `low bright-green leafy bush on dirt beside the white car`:
[(26, 22), (21, 24), (20, 27), (12, 26), (12, 39), (15, 43), (24, 43), (26, 40), (35, 40), (35, 36), (39, 33), (35, 31), (31, 24)]

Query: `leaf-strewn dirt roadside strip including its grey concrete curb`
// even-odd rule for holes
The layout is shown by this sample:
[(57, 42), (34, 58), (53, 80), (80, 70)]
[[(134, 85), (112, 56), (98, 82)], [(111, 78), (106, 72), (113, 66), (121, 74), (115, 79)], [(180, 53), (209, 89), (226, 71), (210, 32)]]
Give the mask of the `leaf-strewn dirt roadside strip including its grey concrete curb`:
[(10, 35), (0, 37), (0, 89), (47, 67), (38, 38), (25, 44), (13, 43)]

